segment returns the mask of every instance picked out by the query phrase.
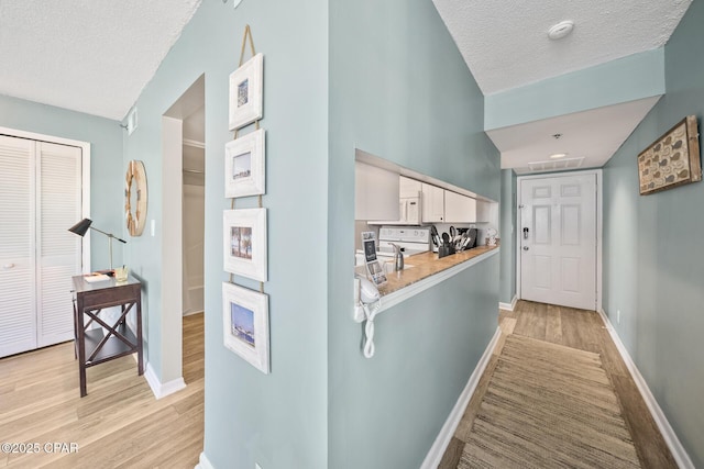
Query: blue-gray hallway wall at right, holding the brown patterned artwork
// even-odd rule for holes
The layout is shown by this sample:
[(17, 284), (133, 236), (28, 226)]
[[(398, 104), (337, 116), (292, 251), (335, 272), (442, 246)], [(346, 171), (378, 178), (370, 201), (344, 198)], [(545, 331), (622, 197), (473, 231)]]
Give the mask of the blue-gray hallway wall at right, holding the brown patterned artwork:
[(604, 168), (604, 310), (695, 467), (704, 467), (704, 183), (641, 197), (636, 157), (685, 115), (704, 122), (702, 24), (695, 0), (664, 49), (666, 96)]

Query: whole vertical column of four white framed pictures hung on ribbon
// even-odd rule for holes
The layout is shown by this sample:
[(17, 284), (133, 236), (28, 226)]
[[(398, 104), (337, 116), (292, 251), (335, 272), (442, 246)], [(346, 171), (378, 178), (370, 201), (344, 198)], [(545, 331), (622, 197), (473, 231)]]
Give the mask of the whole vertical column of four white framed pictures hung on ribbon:
[[(248, 40), (253, 57), (242, 64)], [(223, 345), (265, 375), (270, 373), (270, 311), (264, 282), (268, 279), (266, 217), (266, 131), (260, 129), (264, 100), (264, 56), (256, 54), (252, 32), (244, 30), (240, 67), (229, 78), (229, 122), (234, 138), (224, 146), (224, 197), (231, 209), (222, 213)], [(254, 130), (240, 131), (254, 123)], [(257, 197), (258, 208), (235, 209), (238, 198)], [(234, 283), (234, 276), (260, 282), (260, 291)]]

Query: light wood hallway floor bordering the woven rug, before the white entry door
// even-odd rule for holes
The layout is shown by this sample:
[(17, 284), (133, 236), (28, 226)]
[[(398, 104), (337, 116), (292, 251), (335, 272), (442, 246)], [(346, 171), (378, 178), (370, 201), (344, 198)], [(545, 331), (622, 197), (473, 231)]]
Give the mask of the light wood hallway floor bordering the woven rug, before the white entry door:
[(499, 311), (502, 339), (480, 379), (464, 416), (452, 438), (439, 469), (455, 469), (474, 416), (482, 402), (488, 380), (507, 334), (551, 342), (581, 350), (601, 354), (604, 369), (618, 397), (623, 416), (630, 431), (638, 459), (644, 468), (676, 468), (676, 462), (660, 434), (636, 383), (624, 364), (601, 316), (594, 311), (519, 301), (515, 311)]

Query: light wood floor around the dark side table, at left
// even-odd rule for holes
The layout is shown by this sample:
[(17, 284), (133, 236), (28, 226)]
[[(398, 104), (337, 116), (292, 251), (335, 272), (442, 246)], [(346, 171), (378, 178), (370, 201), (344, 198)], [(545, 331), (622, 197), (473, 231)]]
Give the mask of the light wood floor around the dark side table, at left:
[[(0, 443), (41, 448), (0, 451), (0, 468), (193, 469), (202, 451), (202, 313), (184, 317), (184, 380), (157, 401), (129, 356), (88, 368), (81, 399), (73, 342), (0, 359)], [(46, 443), (78, 450), (46, 453)]]

